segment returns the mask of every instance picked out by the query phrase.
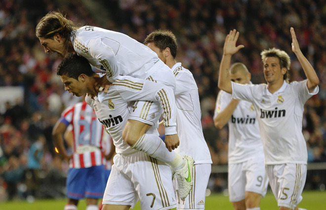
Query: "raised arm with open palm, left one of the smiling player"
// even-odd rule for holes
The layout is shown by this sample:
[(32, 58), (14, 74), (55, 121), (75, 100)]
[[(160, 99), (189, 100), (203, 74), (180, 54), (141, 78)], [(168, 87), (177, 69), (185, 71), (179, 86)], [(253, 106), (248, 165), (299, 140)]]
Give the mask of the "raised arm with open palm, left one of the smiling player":
[(223, 47), (223, 56), (220, 65), (220, 72), (218, 76), (218, 88), (232, 93), (231, 80), (229, 75), (229, 68), (231, 64), (231, 57), (234, 53), (238, 52), (239, 49), (243, 48), (244, 45), (236, 46), (236, 43), (239, 38), (239, 32), (233, 29), (226, 36), (224, 47)]

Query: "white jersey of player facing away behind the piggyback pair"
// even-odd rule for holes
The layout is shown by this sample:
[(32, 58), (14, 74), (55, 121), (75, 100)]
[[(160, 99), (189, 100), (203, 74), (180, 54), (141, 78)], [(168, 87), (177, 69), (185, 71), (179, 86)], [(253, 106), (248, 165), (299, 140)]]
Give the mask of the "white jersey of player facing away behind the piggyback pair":
[(177, 131), (180, 146), (175, 149), (180, 155), (190, 155), (195, 164), (211, 164), (201, 122), (201, 105), (198, 87), (188, 69), (176, 63), (172, 67), (176, 79), (175, 103), (177, 106)]

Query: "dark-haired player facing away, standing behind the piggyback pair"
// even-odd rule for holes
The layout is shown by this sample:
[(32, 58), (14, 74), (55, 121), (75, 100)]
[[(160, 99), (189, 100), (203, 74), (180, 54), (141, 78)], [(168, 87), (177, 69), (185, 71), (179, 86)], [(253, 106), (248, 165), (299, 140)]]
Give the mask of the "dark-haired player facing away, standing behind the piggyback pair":
[(174, 95), (177, 105), (177, 132), (180, 138), (180, 145), (175, 151), (180, 155), (189, 155), (195, 160), (192, 171), (194, 185), (189, 196), (183, 201), (180, 201), (176, 180), (174, 180), (178, 199), (177, 210), (204, 209), (212, 161), (203, 134), (197, 84), (191, 72), (175, 61), (177, 43), (172, 32), (162, 30), (152, 32), (147, 36), (144, 44), (156, 52), (173, 71), (176, 79)]

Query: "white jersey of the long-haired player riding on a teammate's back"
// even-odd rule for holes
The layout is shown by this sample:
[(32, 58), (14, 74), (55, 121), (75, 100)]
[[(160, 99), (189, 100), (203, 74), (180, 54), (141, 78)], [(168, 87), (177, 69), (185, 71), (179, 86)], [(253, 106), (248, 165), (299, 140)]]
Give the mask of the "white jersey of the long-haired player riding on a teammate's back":
[[(99, 70), (110, 82), (118, 75), (146, 79), (153, 65), (162, 62), (158, 55), (125, 34), (93, 26), (83, 26), (72, 36), (75, 51)], [(163, 62), (162, 62), (163, 63)]]

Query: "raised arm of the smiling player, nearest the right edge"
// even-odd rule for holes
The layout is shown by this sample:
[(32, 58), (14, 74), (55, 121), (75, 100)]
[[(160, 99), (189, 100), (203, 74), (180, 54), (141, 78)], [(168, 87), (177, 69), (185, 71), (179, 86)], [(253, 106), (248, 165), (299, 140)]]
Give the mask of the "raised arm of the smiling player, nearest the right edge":
[(299, 43), (296, 40), (294, 29), (292, 27), (290, 28), (290, 33), (292, 37), (292, 51), (295, 53), (303, 68), (304, 73), (306, 74), (306, 77), (308, 79), (307, 87), (309, 89), (309, 92), (312, 92), (315, 87), (319, 84), (319, 79), (314, 68), (311, 66), (307, 58), (302, 54), (299, 47)]

